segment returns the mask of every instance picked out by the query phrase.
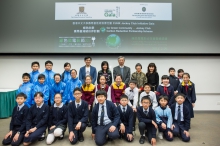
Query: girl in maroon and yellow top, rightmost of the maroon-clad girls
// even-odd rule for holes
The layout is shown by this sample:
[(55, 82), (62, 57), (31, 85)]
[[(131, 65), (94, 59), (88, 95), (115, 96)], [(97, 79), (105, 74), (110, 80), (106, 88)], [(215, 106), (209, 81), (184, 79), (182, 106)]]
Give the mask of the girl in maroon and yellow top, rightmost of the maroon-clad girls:
[(122, 82), (122, 76), (120, 74), (115, 76), (115, 82), (111, 85), (111, 97), (112, 102), (118, 106), (120, 97), (125, 93), (126, 85)]

